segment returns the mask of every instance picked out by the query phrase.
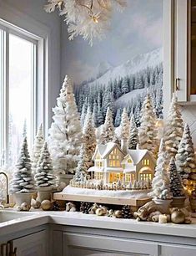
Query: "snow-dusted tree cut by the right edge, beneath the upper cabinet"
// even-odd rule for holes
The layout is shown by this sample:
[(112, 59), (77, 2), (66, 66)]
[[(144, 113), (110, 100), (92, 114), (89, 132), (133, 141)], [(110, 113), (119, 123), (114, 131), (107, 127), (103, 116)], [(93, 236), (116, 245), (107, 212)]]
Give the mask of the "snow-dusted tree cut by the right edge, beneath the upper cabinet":
[(187, 124), (184, 126), (183, 137), (178, 146), (176, 166), (182, 180), (187, 179), (189, 173), (195, 169), (193, 141)]

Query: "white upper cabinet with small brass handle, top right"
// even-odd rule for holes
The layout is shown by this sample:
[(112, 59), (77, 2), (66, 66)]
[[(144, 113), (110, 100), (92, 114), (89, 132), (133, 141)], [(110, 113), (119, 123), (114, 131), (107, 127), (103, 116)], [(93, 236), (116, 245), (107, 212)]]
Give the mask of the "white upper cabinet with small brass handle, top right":
[[(163, 1), (164, 100), (196, 104), (196, 0)], [(167, 100), (168, 99), (168, 100)]]

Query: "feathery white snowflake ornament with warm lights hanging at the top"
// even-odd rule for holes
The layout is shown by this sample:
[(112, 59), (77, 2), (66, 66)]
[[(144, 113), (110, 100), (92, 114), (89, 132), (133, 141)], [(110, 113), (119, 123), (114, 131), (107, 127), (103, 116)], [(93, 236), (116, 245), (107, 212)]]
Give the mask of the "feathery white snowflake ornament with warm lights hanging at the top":
[(69, 40), (81, 35), (93, 45), (93, 39), (103, 39), (111, 21), (113, 8), (122, 11), (126, 0), (48, 0), (44, 9), (53, 13), (56, 8), (68, 25)]

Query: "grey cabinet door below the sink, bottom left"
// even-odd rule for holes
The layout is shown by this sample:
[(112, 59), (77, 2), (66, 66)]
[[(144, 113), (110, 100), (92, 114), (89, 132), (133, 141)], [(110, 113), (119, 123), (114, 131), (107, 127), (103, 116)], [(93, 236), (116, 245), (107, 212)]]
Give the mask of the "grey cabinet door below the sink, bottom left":
[(17, 256), (48, 256), (48, 233), (46, 230), (13, 240)]

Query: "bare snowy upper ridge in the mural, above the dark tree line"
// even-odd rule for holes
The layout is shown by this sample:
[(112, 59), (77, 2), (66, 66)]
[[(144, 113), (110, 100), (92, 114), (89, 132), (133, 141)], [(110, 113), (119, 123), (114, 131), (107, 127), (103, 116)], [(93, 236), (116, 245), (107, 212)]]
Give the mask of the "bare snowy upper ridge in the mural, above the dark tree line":
[[(139, 70), (146, 69), (147, 67), (155, 67), (163, 61), (163, 49), (155, 49), (147, 54), (139, 54), (133, 59), (128, 60), (126, 63), (117, 67), (113, 67), (108, 63), (99, 64), (96, 69), (101, 70), (102, 74), (97, 74), (98, 79), (94, 79), (93, 82), (88, 83), (88, 86), (96, 84), (108, 84), (110, 80), (118, 79), (119, 77), (126, 76), (127, 74), (137, 73)], [(108, 70), (108, 71), (106, 71)], [(105, 72), (106, 71), (106, 72)]]

